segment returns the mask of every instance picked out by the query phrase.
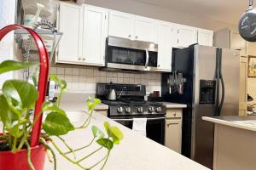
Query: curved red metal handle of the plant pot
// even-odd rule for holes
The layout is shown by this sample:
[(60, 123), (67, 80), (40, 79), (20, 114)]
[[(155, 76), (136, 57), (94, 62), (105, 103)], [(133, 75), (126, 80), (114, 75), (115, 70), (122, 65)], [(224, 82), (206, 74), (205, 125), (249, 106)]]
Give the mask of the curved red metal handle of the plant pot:
[[(41, 106), (44, 102), (44, 98), (45, 98), (45, 94), (46, 94), (47, 82), (48, 82), (48, 72), (49, 72), (49, 56), (47, 53), (47, 49), (44, 46), (44, 42), (41, 39), (41, 37), (38, 35), (38, 33), (26, 26), (9, 25), (9, 26), (3, 27), (0, 30), (0, 41), (10, 31), (15, 31), (15, 30), (19, 30), (19, 29), (28, 31), (31, 34), (31, 36), (33, 37), (33, 39), (36, 42), (36, 45), (38, 47), (38, 54), (39, 54), (39, 60), (40, 60), (40, 72), (39, 72), (39, 80), (38, 80), (38, 93), (39, 94), (38, 94), (38, 100), (37, 100), (37, 103), (35, 106), (35, 111), (34, 111), (34, 118), (35, 118), (42, 111)], [(34, 127), (32, 128), (32, 139), (31, 139), (32, 147), (39, 144), (42, 118), (43, 118), (43, 114), (41, 114), (41, 116), (39, 116)]]

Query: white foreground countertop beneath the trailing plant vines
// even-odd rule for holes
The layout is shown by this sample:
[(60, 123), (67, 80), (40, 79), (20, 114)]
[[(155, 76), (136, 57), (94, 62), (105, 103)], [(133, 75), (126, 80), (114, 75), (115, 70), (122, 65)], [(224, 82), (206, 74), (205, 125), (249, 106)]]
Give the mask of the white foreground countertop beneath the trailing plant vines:
[[(84, 115), (84, 118), (86, 116), (85, 114), (78, 114), (78, 116), (75, 116), (77, 113), (72, 114), (72, 121), (75, 122), (74, 124), (76, 125), (81, 123), (81, 117), (79, 115)], [(71, 113), (67, 113), (67, 115), (70, 116)], [(107, 170), (209, 170), (207, 167), (203, 167), (195, 161), (192, 161), (161, 144), (157, 144), (153, 140), (143, 137), (101, 114), (95, 113), (91, 119), (90, 125), (96, 125), (103, 130), (103, 122), (106, 121), (111, 125), (119, 127), (124, 133), (124, 139), (119, 145), (115, 145), (111, 151), (105, 167)], [(90, 142), (92, 133), (90, 132), (90, 128), (82, 129), (68, 133), (63, 138), (68, 144), (72, 145), (74, 148), (78, 148), (79, 146), (83, 146)], [(61, 148), (62, 147), (63, 145), (61, 145)], [(79, 152), (78, 157), (86, 156), (90, 151), (96, 150), (98, 147), (97, 144), (93, 144), (89, 150)], [(104, 151), (105, 150), (101, 153), (104, 154)], [(90, 160), (84, 162), (84, 165), (92, 165), (96, 160), (101, 159), (101, 156), (105, 156), (103, 154), (92, 156)], [(79, 170), (79, 167), (66, 161), (58, 154), (57, 160), (57, 169)], [(46, 161), (44, 169), (53, 169), (53, 164)], [(99, 169), (99, 167), (95, 169)]]

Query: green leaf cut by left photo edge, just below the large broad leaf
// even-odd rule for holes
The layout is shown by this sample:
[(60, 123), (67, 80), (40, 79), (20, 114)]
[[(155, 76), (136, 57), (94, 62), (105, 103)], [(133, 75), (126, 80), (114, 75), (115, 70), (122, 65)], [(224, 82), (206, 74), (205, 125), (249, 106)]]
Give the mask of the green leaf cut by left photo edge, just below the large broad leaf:
[(3, 94), (0, 95), (0, 117), (6, 127), (12, 127), (13, 122), (19, 119), (15, 112), (11, 111)]

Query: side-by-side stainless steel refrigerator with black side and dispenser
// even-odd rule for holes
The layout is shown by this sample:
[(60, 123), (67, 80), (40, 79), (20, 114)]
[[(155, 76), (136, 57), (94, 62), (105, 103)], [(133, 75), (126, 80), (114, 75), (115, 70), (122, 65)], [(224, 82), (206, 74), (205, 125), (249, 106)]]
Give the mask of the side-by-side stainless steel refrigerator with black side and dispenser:
[[(173, 92), (170, 74), (183, 75), (183, 94)], [(239, 112), (240, 52), (192, 45), (176, 49), (172, 73), (162, 75), (162, 96), (183, 103), (182, 154), (212, 168), (214, 128), (201, 116), (237, 116)]]

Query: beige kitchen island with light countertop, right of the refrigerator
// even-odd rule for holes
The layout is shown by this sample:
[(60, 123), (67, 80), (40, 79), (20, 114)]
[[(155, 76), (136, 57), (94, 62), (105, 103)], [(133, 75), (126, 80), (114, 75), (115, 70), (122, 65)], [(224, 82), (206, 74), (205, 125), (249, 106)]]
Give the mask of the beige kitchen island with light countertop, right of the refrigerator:
[(203, 116), (202, 119), (215, 124), (213, 169), (255, 169), (255, 116)]

